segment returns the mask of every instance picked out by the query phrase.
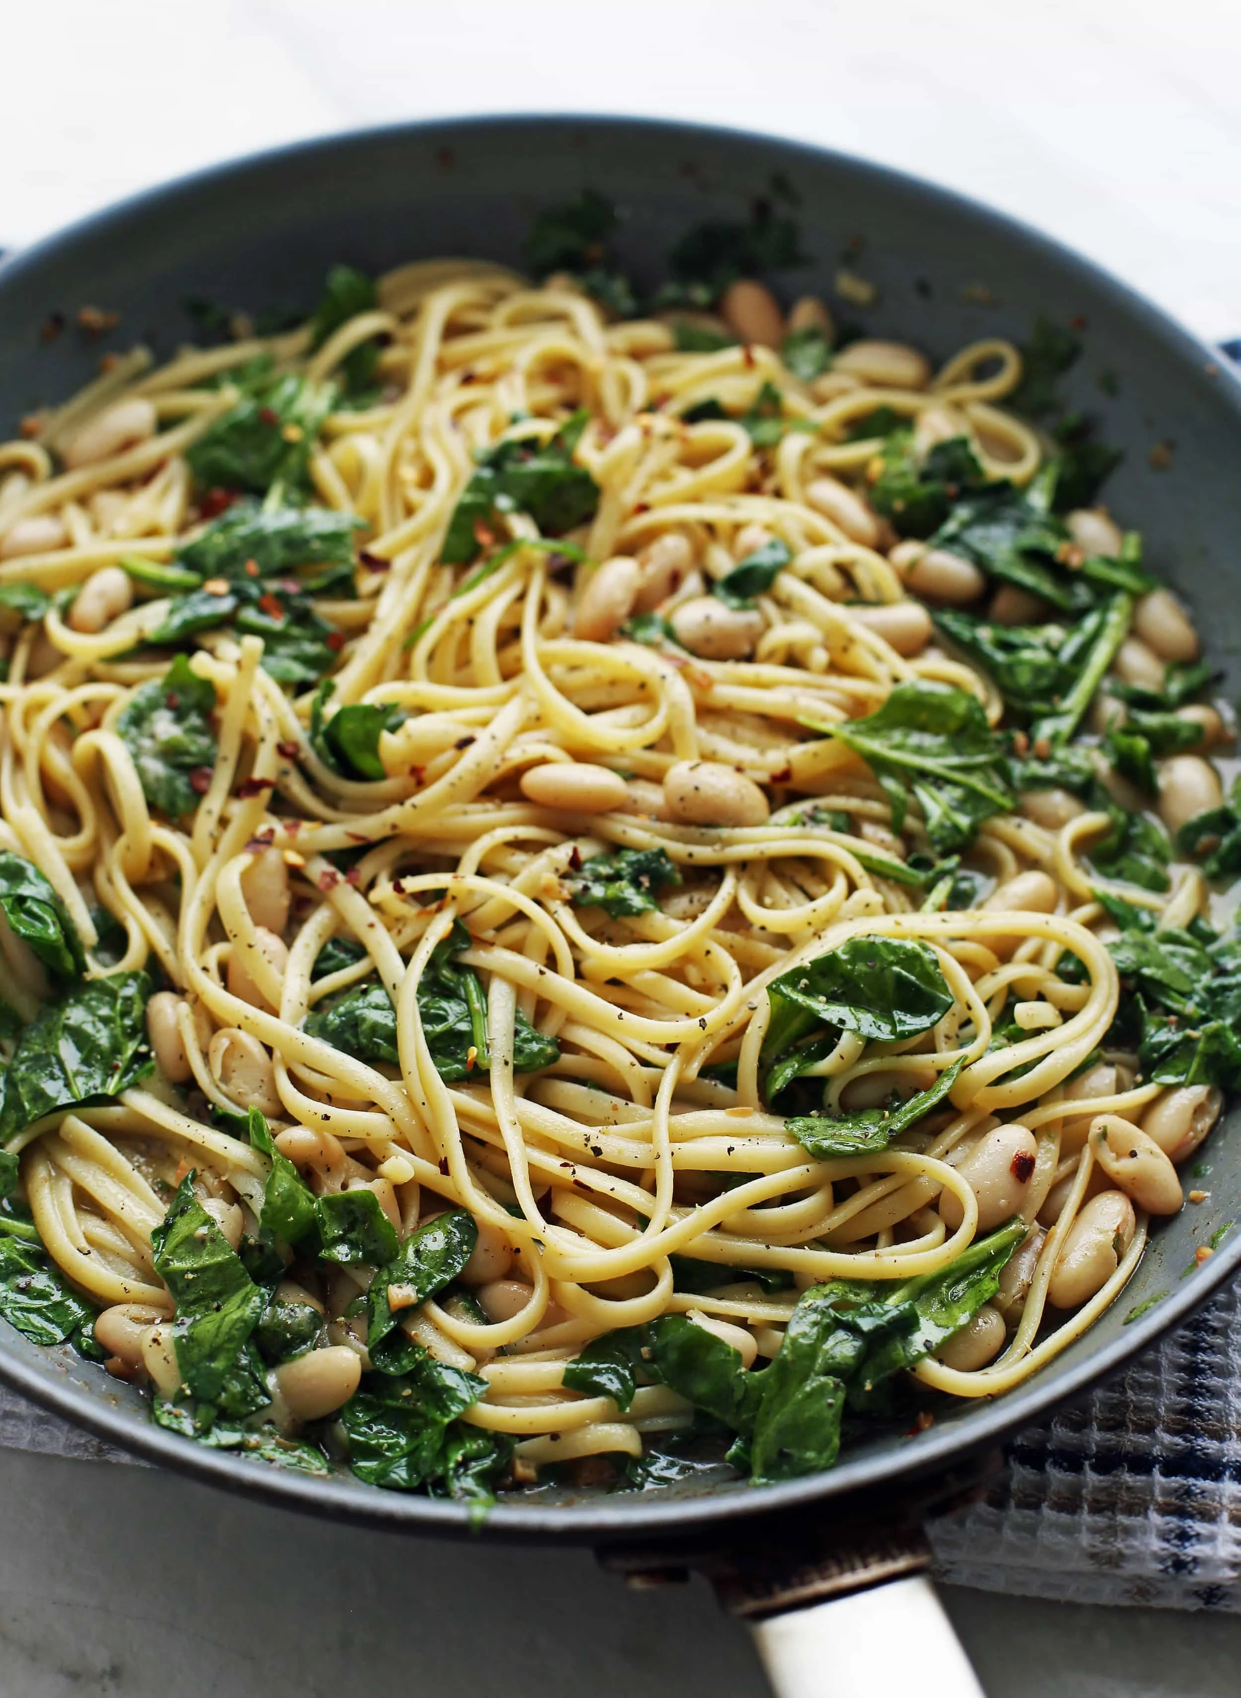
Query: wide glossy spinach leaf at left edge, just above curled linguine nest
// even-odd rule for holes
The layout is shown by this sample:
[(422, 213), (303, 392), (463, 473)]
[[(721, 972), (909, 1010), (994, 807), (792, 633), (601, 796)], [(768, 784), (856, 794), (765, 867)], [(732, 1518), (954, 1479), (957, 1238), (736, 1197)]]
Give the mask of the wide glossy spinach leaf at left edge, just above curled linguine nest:
[(146, 973), (115, 973), (42, 1005), (3, 1075), (0, 1141), (56, 1109), (115, 1097), (149, 1073), (151, 988)]

